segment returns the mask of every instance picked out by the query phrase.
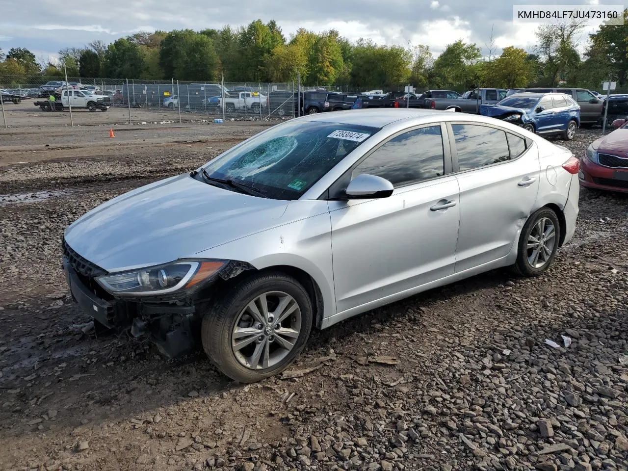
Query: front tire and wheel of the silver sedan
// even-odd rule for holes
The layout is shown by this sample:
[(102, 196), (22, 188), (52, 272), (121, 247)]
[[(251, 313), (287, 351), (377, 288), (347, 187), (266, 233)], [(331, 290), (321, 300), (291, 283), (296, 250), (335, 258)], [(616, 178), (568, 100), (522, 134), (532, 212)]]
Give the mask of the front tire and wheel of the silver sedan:
[[(276, 309), (281, 300), (288, 303), (287, 310), (296, 304), (296, 310), (288, 312), (288, 317), (281, 320), (284, 332), (298, 332), (296, 340), (294, 335), (277, 334), (279, 331), (273, 326), (277, 319), (262, 323), (261, 317), (254, 318), (255, 313), (249, 306), (256, 306), (257, 315), (263, 313), (259, 309), (261, 299), (267, 300), (267, 308), (274, 306)], [(273, 314), (274, 309), (268, 309), (269, 314)], [(310, 335), (312, 317), (310, 297), (296, 279), (281, 272), (254, 274), (208, 306), (201, 327), (203, 349), (210, 361), (231, 379), (260, 381), (284, 371), (296, 359)], [(236, 328), (246, 328), (249, 333), (241, 332), (234, 337)], [(235, 349), (238, 338), (243, 339), (239, 343), (244, 345)], [(290, 344), (284, 343), (286, 338), (293, 341), (290, 349), (287, 347)], [(267, 365), (264, 365), (265, 359)]]

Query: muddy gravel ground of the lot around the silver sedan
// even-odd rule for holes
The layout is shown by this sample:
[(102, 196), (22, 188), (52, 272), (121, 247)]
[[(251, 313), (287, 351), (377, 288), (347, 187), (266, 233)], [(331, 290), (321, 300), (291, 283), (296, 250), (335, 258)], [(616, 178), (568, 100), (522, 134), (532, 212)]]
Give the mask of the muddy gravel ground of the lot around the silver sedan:
[[(628, 197), (582, 190), (540, 278), (493, 271), (372, 311), (313, 333), (288, 370), (310, 373), (242, 386), (201, 352), (97, 337), (60, 242), (90, 208), (273, 123), (31, 112), (0, 130), (0, 468), (628, 469)], [(600, 132), (558, 143), (581, 156)]]

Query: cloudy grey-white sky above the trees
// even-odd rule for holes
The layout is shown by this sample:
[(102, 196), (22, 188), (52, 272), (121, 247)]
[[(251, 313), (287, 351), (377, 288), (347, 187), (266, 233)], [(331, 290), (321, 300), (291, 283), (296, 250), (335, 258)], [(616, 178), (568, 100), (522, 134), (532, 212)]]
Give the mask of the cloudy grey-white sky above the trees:
[[(491, 28), (497, 53), (505, 46), (530, 48), (535, 24), (513, 24), (513, 4), (542, 0), (3, 0), (0, 48), (26, 47), (37, 58), (55, 57), (67, 46), (110, 43), (136, 31), (240, 26), (274, 19), (286, 38), (298, 28), (335, 28), (350, 40), (425, 44), (438, 55), (448, 43), (477, 43), (487, 55)], [(552, 0), (553, 4), (619, 4), (613, 0)], [(595, 28), (590, 28), (593, 30)], [(581, 46), (587, 41), (582, 35)]]

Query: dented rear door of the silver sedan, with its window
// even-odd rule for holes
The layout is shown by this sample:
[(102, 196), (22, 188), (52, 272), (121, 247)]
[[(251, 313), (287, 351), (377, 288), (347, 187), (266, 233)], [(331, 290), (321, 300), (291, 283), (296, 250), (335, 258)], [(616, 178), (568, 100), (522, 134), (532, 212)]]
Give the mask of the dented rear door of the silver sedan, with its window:
[(449, 126), (460, 187), (460, 273), (509, 254), (534, 207), (541, 166), (536, 146), (516, 133), (468, 122)]

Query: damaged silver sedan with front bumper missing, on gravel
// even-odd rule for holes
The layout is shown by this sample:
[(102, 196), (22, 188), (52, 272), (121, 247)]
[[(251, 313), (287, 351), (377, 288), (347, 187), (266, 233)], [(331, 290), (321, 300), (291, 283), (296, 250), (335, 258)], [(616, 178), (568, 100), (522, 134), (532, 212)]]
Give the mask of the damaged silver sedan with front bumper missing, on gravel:
[(578, 214), (579, 162), (495, 119), (417, 109), (305, 116), (65, 230), (73, 298), (166, 355), (283, 371), (312, 328), (512, 266), (548, 269)]

